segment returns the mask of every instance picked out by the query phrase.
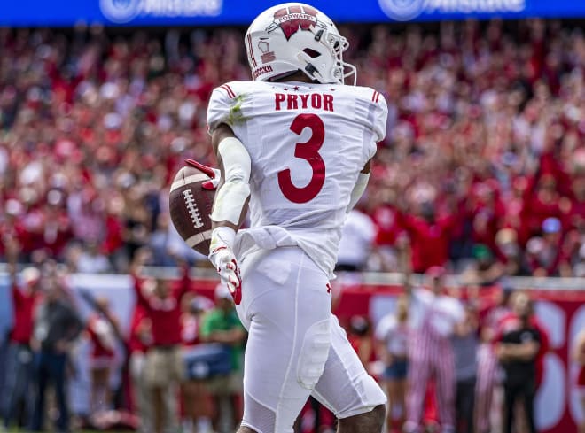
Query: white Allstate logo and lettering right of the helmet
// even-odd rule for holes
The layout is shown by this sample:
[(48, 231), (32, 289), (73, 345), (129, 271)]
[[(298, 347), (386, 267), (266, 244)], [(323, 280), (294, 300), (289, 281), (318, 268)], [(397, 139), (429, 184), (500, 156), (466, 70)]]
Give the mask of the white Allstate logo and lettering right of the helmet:
[(522, 12), (526, 0), (378, 0), (380, 9), (396, 21), (417, 19), (422, 14)]

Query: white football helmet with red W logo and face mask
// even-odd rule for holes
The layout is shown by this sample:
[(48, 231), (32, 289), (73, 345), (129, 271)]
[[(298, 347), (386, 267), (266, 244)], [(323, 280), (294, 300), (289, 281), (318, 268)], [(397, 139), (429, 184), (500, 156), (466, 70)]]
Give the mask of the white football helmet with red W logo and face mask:
[(302, 71), (311, 80), (344, 84), (355, 66), (343, 61), (347, 39), (313, 6), (285, 3), (262, 12), (246, 32), (253, 80), (272, 81)]

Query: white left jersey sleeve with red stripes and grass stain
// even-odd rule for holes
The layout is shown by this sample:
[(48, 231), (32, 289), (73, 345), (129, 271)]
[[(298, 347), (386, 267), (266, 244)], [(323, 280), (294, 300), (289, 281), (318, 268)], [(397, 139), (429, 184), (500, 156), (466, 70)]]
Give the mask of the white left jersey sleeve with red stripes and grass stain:
[(244, 121), (242, 97), (234, 87), (233, 83), (227, 83), (212, 92), (207, 104), (207, 131), (210, 135), (222, 123), (234, 128)]

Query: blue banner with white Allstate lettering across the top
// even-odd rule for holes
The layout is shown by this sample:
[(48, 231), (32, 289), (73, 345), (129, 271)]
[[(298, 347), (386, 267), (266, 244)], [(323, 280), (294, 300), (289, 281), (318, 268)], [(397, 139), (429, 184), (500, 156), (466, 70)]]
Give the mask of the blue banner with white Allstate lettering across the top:
[[(278, 0), (19, 0), (3, 2), (0, 26), (70, 27), (247, 25)], [(314, 0), (338, 22), (502, 17), (585, 17), (584, 0)]]

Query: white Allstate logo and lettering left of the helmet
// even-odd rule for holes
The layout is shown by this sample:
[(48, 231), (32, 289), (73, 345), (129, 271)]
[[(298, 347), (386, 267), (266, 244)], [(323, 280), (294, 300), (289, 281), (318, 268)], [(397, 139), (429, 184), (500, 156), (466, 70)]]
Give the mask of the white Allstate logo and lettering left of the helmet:
[(138, 17), (215, 17), (222, 13), (222, 0), (99, 0), (106, 19), (128, 23)]

